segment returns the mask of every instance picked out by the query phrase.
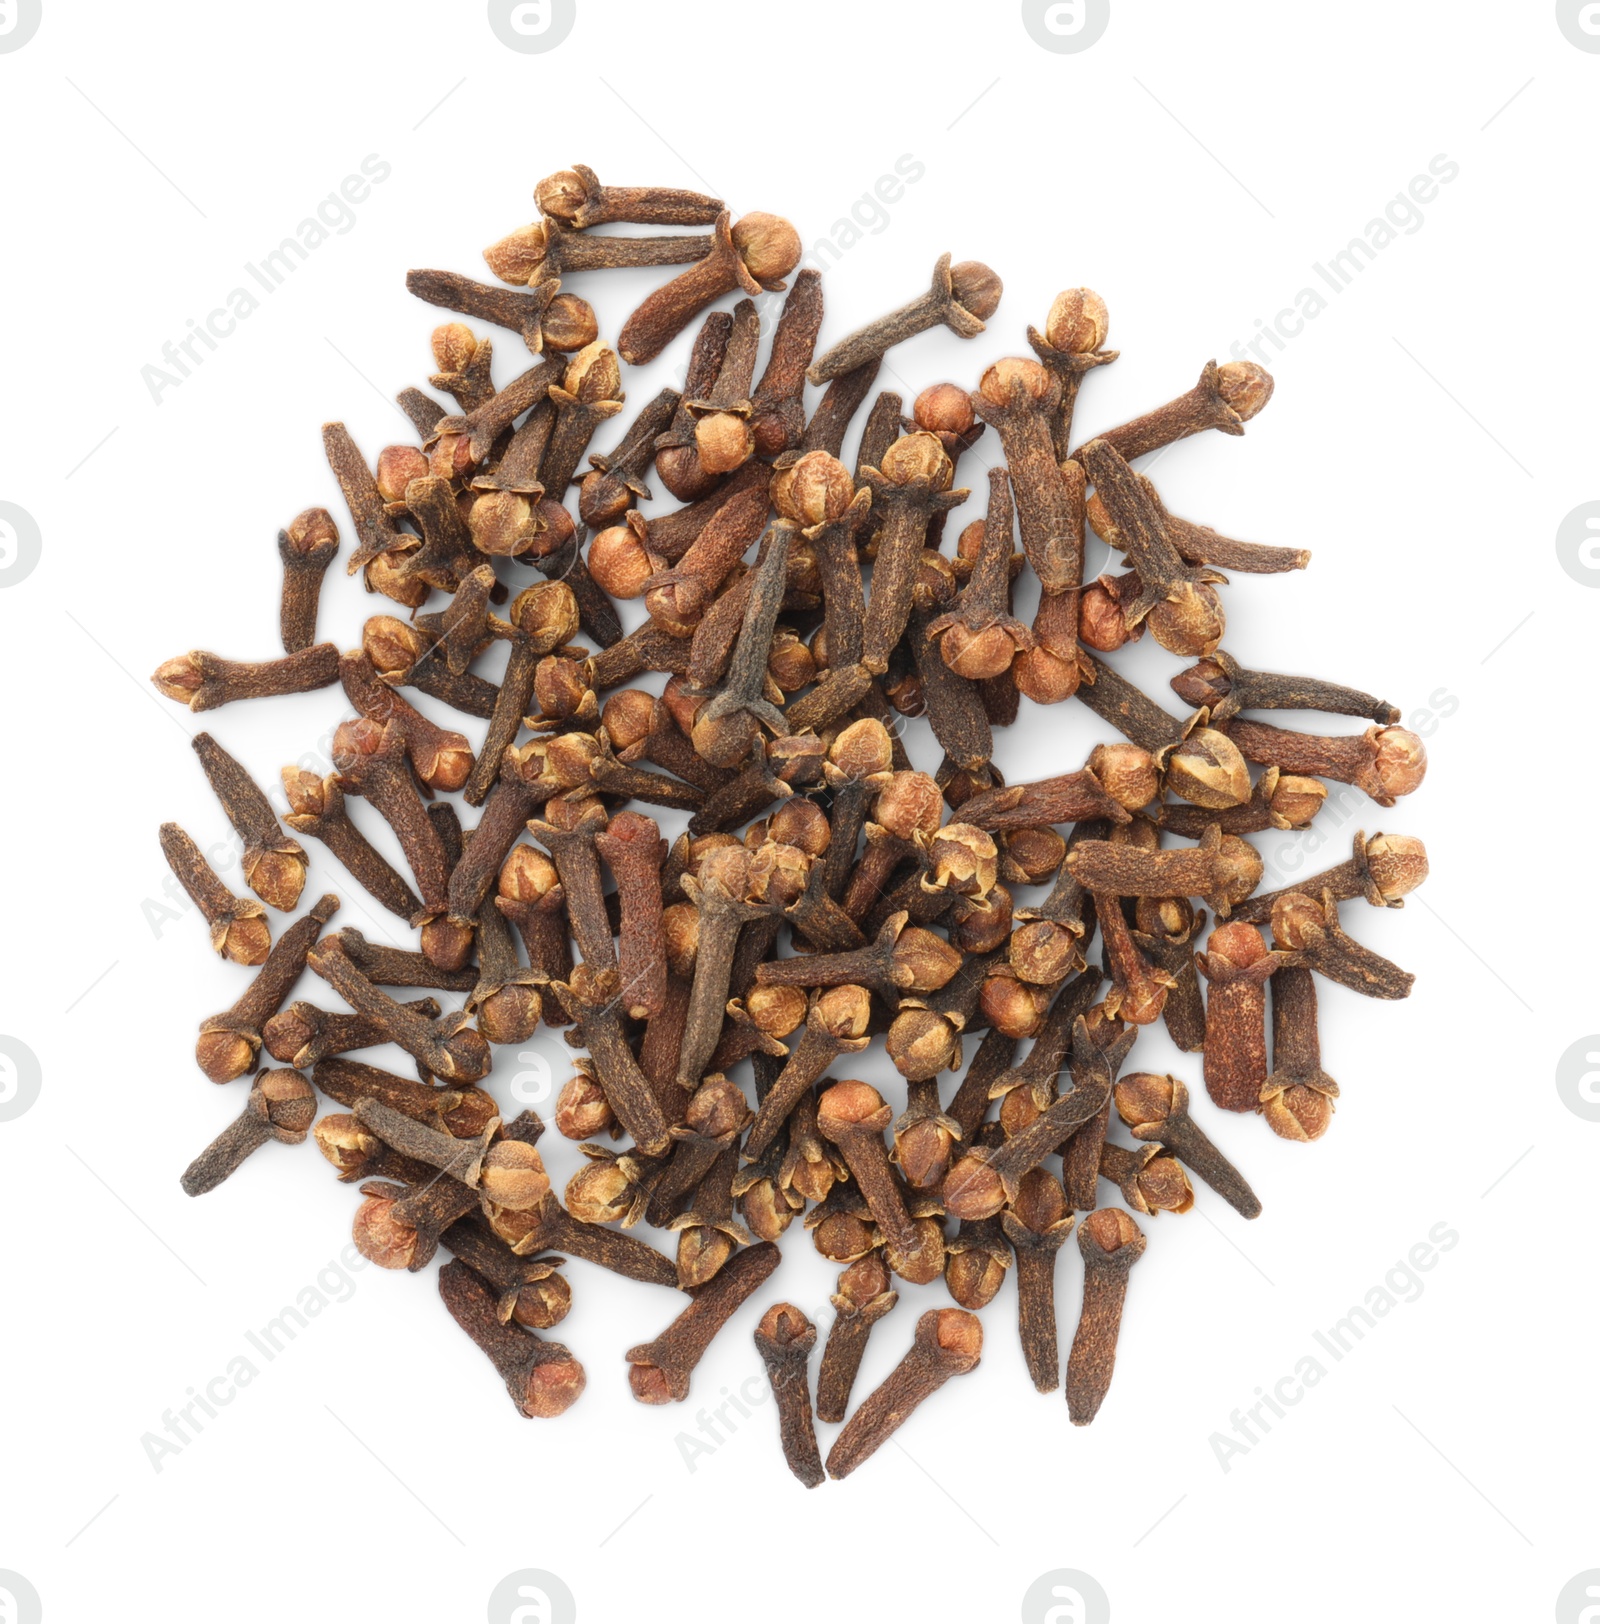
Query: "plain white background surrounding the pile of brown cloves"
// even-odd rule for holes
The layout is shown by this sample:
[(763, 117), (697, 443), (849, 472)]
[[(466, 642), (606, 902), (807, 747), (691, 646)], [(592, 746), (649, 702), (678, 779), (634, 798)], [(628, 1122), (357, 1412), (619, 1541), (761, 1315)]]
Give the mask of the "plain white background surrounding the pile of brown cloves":
[[(1114, 0), (1077, 55), (1036, 45), (1015, 5), (937, 0), (578, 0), (547, 55), (507, 49), (469, 3), (44, 0), (37, 36), (0, 54), (0, 500), (42, 534), (39, 567), (0, 591), (0, 1031), (42, 1069), (32, 1109), (0, 1122), (0, 1569), (55, 1621), (481, 1619), (526, 1567), (559, 1574), (586, 1621), (1012, 1619), (1051, 1569), (1092, 1574), (1118, 1621), (1550, 1618), (1600, 1567), (1600, 1125), (1555, 1082), (1600, 1028), (1584, 814), (1600, 594), (1556, 554), (1561, 520), (1600, 494), (1597, 75), (1600, 55), (1543, 0)], [(244, 261), (367, 154), (391, 175), (354, 226), (154, 403), (141, 367), (253, 289)], [(824, 343), (915, 294), (945, 248), (1005, 279), (986, 335), (890, 357), (880, 383), (906, 400), (975, 383), (1023, 351), (1057, 289), (1087, 284), (1122, 351), (1083, 388), (1092, 430), (1187, 388), (1299, 289), (1327, 297), (1270, 351), (1277, 396), (1248, 435), (1191, 440), (1157, 481), (1174, 512), (1314, 552), (1304, 573), (1225, 590), (1235, 654), (1373, 689), (1428, 736), (1423, 789), (1327, 830), (1316, 859), (1338, 861), (1356, 827), (1428, 841), (1433, 877), (1410, 906), (1345, 909), (1416, 973), (1415, 996), (1325, 992), (1343, 1096), (1317, 1145), (1218, 1121), (1200, 1098), (1265, 1212), (1246, 1224), (1202, 1190), (1187, 1218), (1142, 1220), (1116, 1382), (1087, 1431), (1028, 1385), (1007, 1286), (981, 1369), (848, 1483), (793, 1483), (770, 1402), (690, 1471), (697, 1411), (759, 1376), (759, 1307), (786, 1296), (825, 1325), (837, 1270), (796, 1226), (684, 1406), (642, 1408), (624, 1377), (622, 1351), (676, 1312), (669, 1293), (573, 1263), (559, 1335), (588, 1392), (564, 1421), (526, 1423), (432, 1272), (367, 1268), (326, 1276), (330, 1306), (271, 1364), (253, 1356), (255, 1382), (154, 1470), (145, 1434), (315, 1285), (357, 1197), (310, 1145), (265, 1148), (203, 1200), (180, 1192), (244, 1103), (244, 1083), (213, 1088), (190, 1059), (197, 1020), (244, 974), (192, 909), (164, 916), (156, 844), (164, 818), (201, 843), (226, 835), (195, 731), (275, 783), (344, 715), (341, 695), (198, 718), (148, 672), (187, 648), (276, 651), (278, 526), (326, 503), (349, 544), (318, 425), (341, 417), (369, 455), (409, 438), (388, 401), (426, 380), (440, 313), (404, 271), (486, 274), (479, 250), (531, 218), (541, 175), (583, 161), (606, 180), (713, 190), (789, 216), (814, 245), (838, 240), (902, 154), (923, 177), (884, 218), (861, 205), (874, 229), (837, 265), (811, 261), (828, 265)], [(1439, 154), (1459, 177), (1334, 296), (1312, 263)], [(658, 279), (569, 286), (614, 336)], [(505, 382), (520, 346), (494, 339)], [(627, 372), (630, 411), (681, 378), (687, 343)], [(962, 464), (968, 515), (994, 451), (989, 437)], [(1095, 544), (1092, 568), (1101, 557)], [(385, 607), (330, 575), (323, 635), (351, 646)], [(1145, 646), (1119, 664), (1158, 695), (1176, 669)], [(1067, 770), (1103, 736), (1080, 706), (1025, 705), (999, 760), (1014, 778)], [(908, 737), (932, 765), (926, 731)], [(1295, 840), (1262, 844), (1278, 859)], [(338, 890), (336, 924), (388, 934), (322, 848), (312, 859), (307, 895)], [(301, 996), (328, 1000), (312, 978)], [(567, 1075), (557, 1039), (530, 1052), (556, 1085)], [(1139, 1064), (1200, 1095), (1165, 1033)], [(517, 1070), (502, 1052), (508, 1104)], [(892, 1075), (880, 1051), (861, 1075)], [(577, 1156), (552, 1137), (559, 1187)], [(1314, 1332), (1436, 1224), (1459, 1244), (1421, 1294), (1342, 1363), (1321, 1356), (1325, 1380), (1223, 1470), (1213, 1434), (1233, 1436), (1231, 1413), (1317, 1353)], [(1066, 1346), (1075, 1244), (1057, 1280)], [(905, 1294), (858, 1392), (939, 1301)]]

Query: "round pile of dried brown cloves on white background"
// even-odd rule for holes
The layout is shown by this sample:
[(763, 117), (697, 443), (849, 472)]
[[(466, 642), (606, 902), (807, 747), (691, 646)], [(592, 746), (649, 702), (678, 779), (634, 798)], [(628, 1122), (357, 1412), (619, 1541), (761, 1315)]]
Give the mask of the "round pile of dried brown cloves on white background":
[[(1338, 908), (1399, 906), (1426, 875), (1418, 840), (1358, 836), (1350, 861), (1259, 895), (1249, 835), (1309, 827), (1327, 781), (1392, 806), (1421, 783), (1421, 742), (1369, 693), (1226, 653), (1223, 572), (1296, 570), (1308, 554), (1178, 518), (1135, 468), (1187, 435), (1243, 434), (1272, 380), (1207, 364), (1176, 400), (1079, 443), (1079, 390), (1116, 351), (1101, 299), (1072, 289), (1028, 328), (1030, 356), (981, 369), (973, 390), (936, 383), (906, 417), (898, 395), (874, 398), (885, 351), (937, 325), (983, 333), (1001, 300), (988, 266), (945, 255), (924, 292), (822, 356), (822, 284), (804, 270), (762, 369), (755, 296), (785, 291), (799, 263), (788, 221), (734, 222), (716, 198), (601, 185), (583, 167), (536, 200), (538, 222), (484, 255), (507, 286), (408, 279), (508, 328), (533, 365), (497, 387), (491, 339), (450, 322), (430, 383), (455, 411), (398, 396), (417, 443), (369, 464), (341, 424), (323, 429), (356, 539), (346, 567), (396, 614), (367, 620), (349, 651), (315, 640), (339, 526), (310, 508), (278, 538), (284, 656), (188, 653), (156, 672), (195, 711), (335, 684), (354, 708), (333, 771), (284, 768), (276, 807), (213, 737), (195, 739), (258, 901), (232, 895), (182, 828), (161, 831), (213, 947), (258, 966), (200, 1028), (208, 1078), (253, 1080), (184, 1187), (216, 1187), (266, 1140), (314, 1137), (361, 1187), (369, 1259), (419, 1270), (440, 1244), (452, 1254), (440, 1296), (526, 1416), (562, 1413), (585, 1385), (541, 1335), (569, 1311), (567, 1259), (687, 1294), (627, 1353), (635, 1398), (668, 1403), (801, 1218), (843, 1270), (815, 1403), (817, 1330), (799, 1309), (770, 1307), (755, 1345), (807, 1484), (853, 1471), (976, 1366), (976, 1311), (1010, 1268), (1027, 1367), (1041, 1392), (1059, 1387), (1056, 1254), (1083, 1213), (1066, 1358), (1083, 1424), (1111, 1382), (1139, 1220), (1187, 1212), (1191, 1177), (1246, 1218), (1261, 1210), (1189, 1088), (1126, 1069), (1140, 1028), (1165, 1020), (1202, 1057), (1213, 1106), (1312, 1140), (1338, 1093), (1316, 978), (1381, 999), (1412, 983), (1345, 934)], [(606, 222), (674, 231), (593, 229)], [(599, 341), (569, 279), (651, 265), (682, 270), (616, 346)], [(700, 323), (684, 388), (609, 434), (621, 362), (658, 356), (724, 296), (737, 299)], [(608, 448), (583, 469), (596, 437)], [(988, 507), (947, 531), (975, 443), (996, 461)], [(679, 505), (646, 518), (646, 479)], [(1122, 554), (1121, 573), (1085, 585), (1085, 525)], [(1040, 586), (1031, 624), (1012, 612), (1023, 565)], [(642, 604), (632, 630), (616, 601)], [(1187, 715), (1106, 659), (1147, 630), (1191, 661), (1171, 679)], [(495, 643), (499, 682), (474, 669)], [(1023, 698), (1074, 697), (1121, 737), (1074, 771), (1005, 784), (992, 729)], [(1275, 710), (1371, 726), (1321, 737), (1246, 715)], [(473, 718), (476, 749), (452, 711)], [(932, 771), (906, 755), (910, 716), (939, 744)], [(456, 793), (476, 827), (461, 827)], [(638, 807), (687, 828), (663, 838)], [(374, 820), (403, 867), (370, 843)], [(271, 940), (268, 909), (292, 911), (305, 883), (305, 836), (419, 931), (414, 950), (325, 934), (335, 896)], [(1031, 906), (1014, 901), (1025, 887)], [(333, 1007), (289, 1002), (305, 966)], [(541, 1023), (582, 1051), (556, 1129), (588, 1161), (564, 1195), (539, 1156), (544, 1122), (502, 1121), (482, 1086), (494, 1047)], [(906, 1082), (903, 1109), (848, 1075), (874, 1038)], [(385, 1043), (416, 1078), (348, 1057)], [(318, 1095), (341, 1109), (317, 1119)], [(1106, 1187), (1121, 1205), (1100, 1205)], [(638, 1237), (640, 1220), (676, 1231), (676, 1257)], [(942, 1276), (957, 1306), (923, 1314), (851, 1410), (895, 1276)], [(825, 1465), (814, 1416), (843, 1423)]]

